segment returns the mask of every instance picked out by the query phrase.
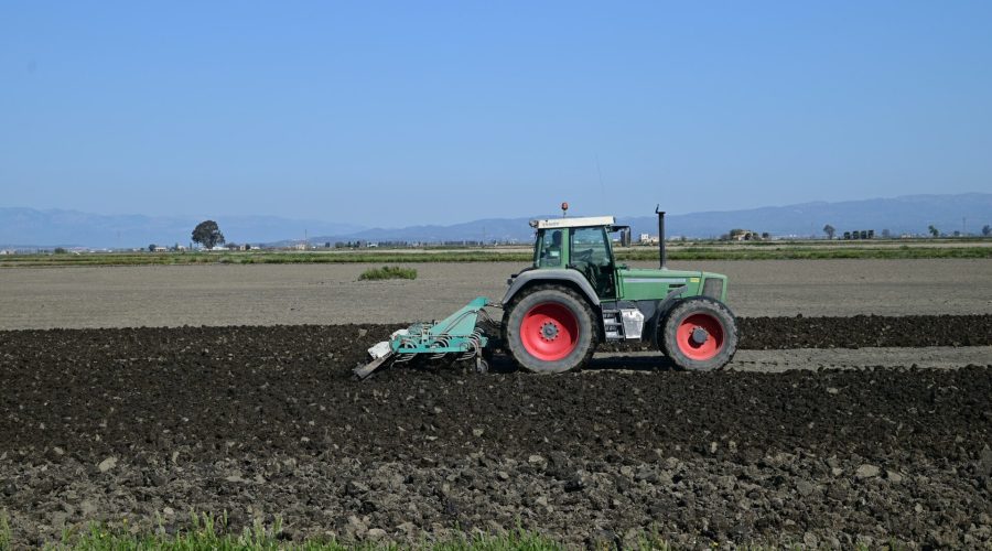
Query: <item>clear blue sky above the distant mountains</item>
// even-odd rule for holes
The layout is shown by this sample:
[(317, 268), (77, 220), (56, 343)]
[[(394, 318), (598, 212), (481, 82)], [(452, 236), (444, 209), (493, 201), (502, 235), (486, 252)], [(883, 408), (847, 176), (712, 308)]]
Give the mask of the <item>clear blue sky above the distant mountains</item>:
[(362, 225), (992, 190), (992, 2), (0, 6), (0, 205)]

